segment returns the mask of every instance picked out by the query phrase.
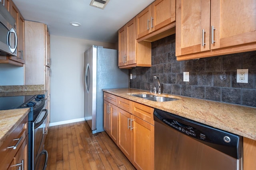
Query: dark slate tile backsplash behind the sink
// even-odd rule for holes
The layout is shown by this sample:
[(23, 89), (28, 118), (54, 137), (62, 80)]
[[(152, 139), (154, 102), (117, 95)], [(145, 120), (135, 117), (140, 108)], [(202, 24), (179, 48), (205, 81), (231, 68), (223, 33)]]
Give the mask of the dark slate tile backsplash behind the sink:
[[(248, 83), (236, 83), (236, 69), (248, 68)], [(183, 72), (189, 82), (183, 82)], [(176, 61), (175, 35), (152, 42), (152, 66), (130, 70), (131, 88), (157, 87), (163, 93), (256, 107), (256, 51)]]

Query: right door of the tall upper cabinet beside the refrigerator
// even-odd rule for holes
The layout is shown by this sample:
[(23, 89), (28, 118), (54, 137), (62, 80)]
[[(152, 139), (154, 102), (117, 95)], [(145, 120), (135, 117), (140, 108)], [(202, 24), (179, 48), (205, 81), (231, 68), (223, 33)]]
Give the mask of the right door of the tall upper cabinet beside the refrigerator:
[(136, 18), (127, 24), (127, 64), (136, 64)]

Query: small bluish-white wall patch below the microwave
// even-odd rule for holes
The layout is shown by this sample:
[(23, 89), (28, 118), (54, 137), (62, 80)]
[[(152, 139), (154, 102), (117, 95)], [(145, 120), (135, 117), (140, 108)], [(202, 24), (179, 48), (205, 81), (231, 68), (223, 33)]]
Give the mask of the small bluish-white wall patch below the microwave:
[(24, 85), (24, 67), (0, 64), (0, 86)]

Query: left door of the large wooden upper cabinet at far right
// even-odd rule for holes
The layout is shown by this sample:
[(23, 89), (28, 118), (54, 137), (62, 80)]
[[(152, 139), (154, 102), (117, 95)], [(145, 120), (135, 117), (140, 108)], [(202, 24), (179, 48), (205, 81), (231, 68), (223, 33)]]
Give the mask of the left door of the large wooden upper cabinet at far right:
[(176, 56), (207, 50), (210, 50), (210, 0), (176, 0)]

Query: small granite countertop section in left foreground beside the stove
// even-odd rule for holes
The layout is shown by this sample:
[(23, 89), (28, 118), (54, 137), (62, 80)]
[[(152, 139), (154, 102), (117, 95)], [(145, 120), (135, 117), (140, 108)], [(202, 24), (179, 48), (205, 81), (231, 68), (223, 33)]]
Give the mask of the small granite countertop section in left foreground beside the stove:
[(29, 113), (30, 108), (0, 110), (0, 146)]

